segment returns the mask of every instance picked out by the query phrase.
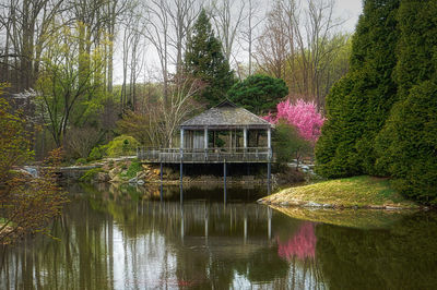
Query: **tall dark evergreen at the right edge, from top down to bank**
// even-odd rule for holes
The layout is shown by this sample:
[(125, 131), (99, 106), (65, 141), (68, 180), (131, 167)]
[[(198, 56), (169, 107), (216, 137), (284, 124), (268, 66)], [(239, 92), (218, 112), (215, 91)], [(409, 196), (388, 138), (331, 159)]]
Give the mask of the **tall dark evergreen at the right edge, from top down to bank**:
[(403, 194), (437, 203), (437, 2), (402, 1), (395, 80), (400, 100), (377, 137), (377, 166)]

